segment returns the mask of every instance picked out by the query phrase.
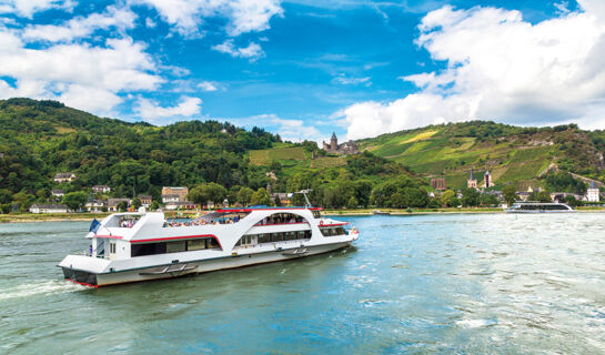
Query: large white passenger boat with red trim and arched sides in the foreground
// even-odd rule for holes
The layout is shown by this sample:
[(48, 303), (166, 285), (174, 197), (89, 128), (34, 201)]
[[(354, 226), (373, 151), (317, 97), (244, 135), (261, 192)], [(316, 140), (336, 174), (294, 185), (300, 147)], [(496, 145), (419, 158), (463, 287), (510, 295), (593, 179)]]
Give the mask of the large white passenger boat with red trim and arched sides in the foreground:
[(114, 213), (93, 221), (89, 251), (58, 266), (67, 280), (99, 287), (292, 260), (357, 240), (356, 229), (320, 211), (251, 206), (180, 222), (162, 212)]

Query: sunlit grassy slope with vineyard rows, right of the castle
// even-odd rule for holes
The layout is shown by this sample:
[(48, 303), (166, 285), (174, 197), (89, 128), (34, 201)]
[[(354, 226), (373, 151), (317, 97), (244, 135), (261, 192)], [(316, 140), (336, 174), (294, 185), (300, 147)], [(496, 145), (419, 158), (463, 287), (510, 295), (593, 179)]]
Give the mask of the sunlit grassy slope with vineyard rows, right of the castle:
[[(465, 123), (447, 124), (362, 140), (360, 145), (363, 150), (400, 162), (426, 179), (445, 176), (452, 189), (466, 185), (471, 169), (475, 169), (480, 184), (484, 172), (490, 170), (497, 185), (507, 182), (535, 185), (540, 184), (536, 179), (541, 172), (565, 155), (557, 142), (571, 134), (553, 130), (532, 132), (490, 122), (474, 124), (502, 126), (502, 132), (496, 131), (500, 134), (485, 138), (473, 134)], [(471, 134), (464, 134), (465, 130)], [(581, 138), (577, 140), (583, 141)], [(576, 163), (581, 162), (576, 160)]]

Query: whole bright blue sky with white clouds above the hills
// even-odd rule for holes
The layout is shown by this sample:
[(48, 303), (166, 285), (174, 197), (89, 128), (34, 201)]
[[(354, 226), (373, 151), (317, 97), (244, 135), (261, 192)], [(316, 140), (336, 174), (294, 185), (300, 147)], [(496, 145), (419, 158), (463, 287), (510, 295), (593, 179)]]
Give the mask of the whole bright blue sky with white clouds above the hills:
[(291, 140), (490, 119), (605, 128), (605, 7), (0, 0), (0, 97)]

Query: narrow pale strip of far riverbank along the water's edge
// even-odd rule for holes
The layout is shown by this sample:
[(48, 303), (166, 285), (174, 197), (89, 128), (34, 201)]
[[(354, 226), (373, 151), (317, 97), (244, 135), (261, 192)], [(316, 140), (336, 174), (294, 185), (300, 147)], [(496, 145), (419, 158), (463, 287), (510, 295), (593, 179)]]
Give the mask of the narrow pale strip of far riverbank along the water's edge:
[[(505, 213), (502, 209), (437, 209), (437, 210), (376, 210), (384, 214), (375, 214), (374, 210), (324, 210), (323, 215), (330, 216), (370, 216), (370, 215), (427, 215), (427, 214), (500, 214)], [(579, 207), (578, 213), (604, 213), (605, 207)], [(93, 219), (101, 220), (110, 213), (49, 213), (49, 214), (2, 214), (0, 223), (34, 223), (34, 222), (92, 222)]]

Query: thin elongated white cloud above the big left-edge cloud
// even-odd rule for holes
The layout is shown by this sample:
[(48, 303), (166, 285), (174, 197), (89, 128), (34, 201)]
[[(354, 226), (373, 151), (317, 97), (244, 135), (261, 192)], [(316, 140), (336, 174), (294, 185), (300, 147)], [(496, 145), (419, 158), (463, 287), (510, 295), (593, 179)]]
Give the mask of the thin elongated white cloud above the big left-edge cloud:
[(50, 42), (71, 41), (75, 38), (90, 36), (95, 30), (115, 28), (119, 31), (134, 28), (137, 14), (130, 9), (108, 7), (103, 13), (92, 13), (89, 17), (73, 18), (62, 26), (37, 24), (29, 26), (23, 31), (27, 40), (43, 40)]

